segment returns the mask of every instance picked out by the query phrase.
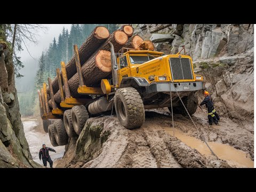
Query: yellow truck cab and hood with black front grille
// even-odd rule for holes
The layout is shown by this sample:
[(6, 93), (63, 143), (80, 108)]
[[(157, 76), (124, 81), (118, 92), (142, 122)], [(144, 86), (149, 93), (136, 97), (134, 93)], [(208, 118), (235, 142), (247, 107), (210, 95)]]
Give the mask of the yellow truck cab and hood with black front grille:
[[(202, 88), (203, 77), (195, 75), (192, 59), (188, 55), (164, 55), (163, 52), (157, 51), (131, 50), (117, 58), (117, 65), (120, 85), (127, 77), (140, 77), (148, 84), (183, 83), (180, 84), (183, 91), (195, 91)], [(191, 84), (185, 82), (196, 84), (189, 86)]]

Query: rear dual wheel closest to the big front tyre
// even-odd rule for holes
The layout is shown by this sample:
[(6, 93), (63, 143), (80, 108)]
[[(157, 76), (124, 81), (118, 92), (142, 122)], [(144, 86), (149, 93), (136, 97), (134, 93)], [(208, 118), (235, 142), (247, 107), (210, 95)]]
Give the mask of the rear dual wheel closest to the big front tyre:
[(71, 109), (71, 117), (73, 122), (73, 127), (76, 134), (80, 134), (81, 131), (84, 129), (84, 125), (89, 118), (88, 111), (85, 106), (74, 106)]

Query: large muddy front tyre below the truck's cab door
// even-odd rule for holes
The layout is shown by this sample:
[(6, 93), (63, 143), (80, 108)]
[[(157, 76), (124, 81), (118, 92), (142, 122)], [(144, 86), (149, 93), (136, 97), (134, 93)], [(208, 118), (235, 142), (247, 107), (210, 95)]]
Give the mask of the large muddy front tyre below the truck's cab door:
[(138, 128), (145, 122), (143, 101), (133, 87), (118, 89), (114, 102), (117, 118), (126, 129)]

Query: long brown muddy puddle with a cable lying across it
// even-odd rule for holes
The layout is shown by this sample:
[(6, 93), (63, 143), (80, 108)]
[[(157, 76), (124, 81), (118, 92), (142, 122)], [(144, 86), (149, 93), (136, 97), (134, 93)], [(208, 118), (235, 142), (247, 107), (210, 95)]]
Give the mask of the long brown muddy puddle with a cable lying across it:
[[(170, 127), (163, 127), (164, 130), (173, 135), (173, 129)], [(179, 130), (174, 129), (174, 135), (178, 139), (180, 139), (183, 143), (186, 143), (187, 146), (194, 148), (199, 151), (199, 153), (210, 156), (211, 151), (205, 145), (205, 143), (199, 139), (194, 137), (190, 137), (188, 135), (182, 134)], [(253, 167), (253, 161), (246, 157), (246, 153), (242, 150), (235, 149), (231, 146), (217, 143), (217, 142), (208, 142), (211, 149), (214, 153), (222, 160), (227, 161), (227, 163), (231, 166), (236, 167)]]

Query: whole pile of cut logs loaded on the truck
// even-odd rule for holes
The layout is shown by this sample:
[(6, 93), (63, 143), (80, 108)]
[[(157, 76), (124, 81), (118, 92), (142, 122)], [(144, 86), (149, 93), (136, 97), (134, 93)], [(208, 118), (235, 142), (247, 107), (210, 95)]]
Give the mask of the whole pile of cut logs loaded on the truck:
[[(122, 47), (135, 50), (154, 50), (154, 44), (152, 42), (143, 41), (139, 35), (130, 37), (132, 33), (133, 28), (126, 25), (114, 31), (107, 39), (104, 39), (104, 41), (101, 41), (100, 38), (98, 38), (99, 34), (97, 33), (97, 28), (94, 29), (93, 33), (89, 36), (89, 38), (86, 39), (85, 43), (83, 43), (79, 49), (79, 58), (81, 63), (83, 63), (81, 71), (83, 81), (86, 86), (98, 85), (102, 78), (111, 76), (111, 55), (110, 47), (108, 45), (109, 42), (114, 45), (115, 52), (121, 50)], [(106, 36), (107, 35), (105, 34), (105, 37)], [(88, 98), (88, 95), (82, 95), (77, 92), (77, 88), (79, 87), (79, 78), (78, 74), (76, 73), (74, 55), (73, 58), (68, 62), (66, 69), (71, 97)], [(71, 76), (71, 74), (73, 74), (73, 76)], [(61, 97), (58, 79), (56, 77), (54, 78), (52, 85), (54, 86), (54, 100), (58, 105), (61, 102)], [(49, 101), (49, 104), (50, 103), (51, 100)]]

